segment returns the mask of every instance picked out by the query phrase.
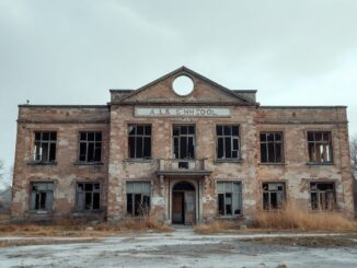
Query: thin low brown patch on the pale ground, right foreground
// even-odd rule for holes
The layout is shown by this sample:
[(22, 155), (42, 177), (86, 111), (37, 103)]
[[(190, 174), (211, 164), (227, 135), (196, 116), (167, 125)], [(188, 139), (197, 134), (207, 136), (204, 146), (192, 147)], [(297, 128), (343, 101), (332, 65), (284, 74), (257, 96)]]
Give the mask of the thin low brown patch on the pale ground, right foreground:
[(347, 236), (307, 236), (307, 237), (255, 237), (244, 240), (263, 245), (287, 245), (287, 246), (306, 246), (306, 247), (336, 247), (336, 246), (355, 246), (357, 240)]

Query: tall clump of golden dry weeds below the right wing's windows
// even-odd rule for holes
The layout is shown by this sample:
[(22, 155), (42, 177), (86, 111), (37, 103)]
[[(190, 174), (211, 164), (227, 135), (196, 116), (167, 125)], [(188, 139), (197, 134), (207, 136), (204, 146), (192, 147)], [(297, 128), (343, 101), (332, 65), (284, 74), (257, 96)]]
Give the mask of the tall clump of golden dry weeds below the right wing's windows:
[(350, 231), (357, 230), (355, 221), (344, 218), (334, 211), (309, 211), (293, 203), (283, 209), (263, 211), (255, 215), (251, 223), (256, 229), (306, 230), (306, 231)]

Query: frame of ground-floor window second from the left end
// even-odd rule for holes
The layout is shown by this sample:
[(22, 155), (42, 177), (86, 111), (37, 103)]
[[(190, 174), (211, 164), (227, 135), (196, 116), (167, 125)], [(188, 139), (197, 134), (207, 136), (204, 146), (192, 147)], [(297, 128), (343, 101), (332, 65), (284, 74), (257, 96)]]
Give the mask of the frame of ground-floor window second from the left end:
[[(83, 191), (79, 190), (79, 184), (83, 184)], [(87, 184), (91, 184), (92, 185), (92, 190), (85, 190), (85, 185)], [(99, 184), (100, 188), (95, 189), (94, 185)], [(87, 193), (91, 193), (91, 208), (90, 209), (85, 209), (85, 194)], [(83, 194), (83, 209), (79, 209), (79, 203), (78, 203), (78, 198), (79, 198), (79, 194)], [(99, 194), (99, 209), (93, 209), (93, 203), (94, 203), (94, 194)], [(102, 198), (102, 183), (100, 180), (95, 180), (95, 182), (89, 182), (89, 180), (78, 180), (76, 182), (76, 200), (74, 200), (74, 209), (76, 212), (99, 212), (101, 211), (101, 201)]]

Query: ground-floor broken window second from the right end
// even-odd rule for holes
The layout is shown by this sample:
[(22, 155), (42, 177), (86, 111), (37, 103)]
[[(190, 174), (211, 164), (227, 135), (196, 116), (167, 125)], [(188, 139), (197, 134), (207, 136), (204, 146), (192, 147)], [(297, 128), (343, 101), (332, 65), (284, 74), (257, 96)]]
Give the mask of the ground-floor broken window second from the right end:
[(263, 184), (263, 209), (281, 209), (285, 202), (285, 184), (264, 183)]

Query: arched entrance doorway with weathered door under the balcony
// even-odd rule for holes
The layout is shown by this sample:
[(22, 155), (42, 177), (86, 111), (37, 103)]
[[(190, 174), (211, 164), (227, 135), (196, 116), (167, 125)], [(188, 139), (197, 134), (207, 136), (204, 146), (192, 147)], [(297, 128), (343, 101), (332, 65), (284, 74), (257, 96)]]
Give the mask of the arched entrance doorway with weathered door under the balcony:
[(196, 223), (196, 193), (191, 183), (180, 182), (172, 189), (172, 223)]

